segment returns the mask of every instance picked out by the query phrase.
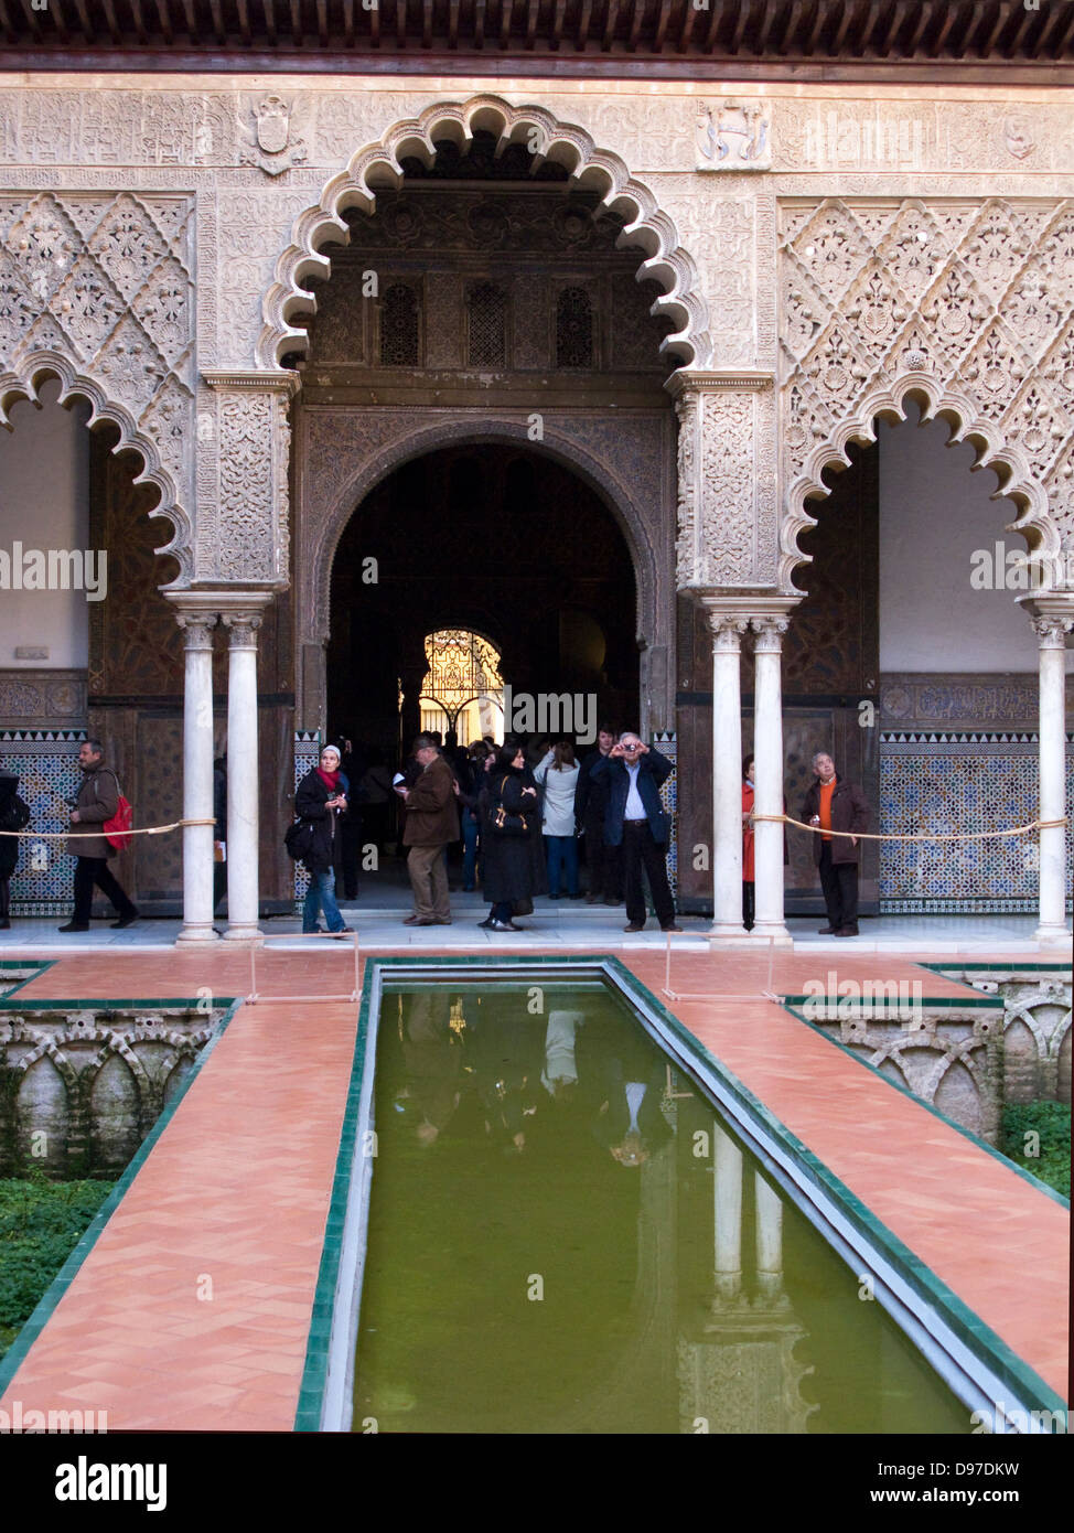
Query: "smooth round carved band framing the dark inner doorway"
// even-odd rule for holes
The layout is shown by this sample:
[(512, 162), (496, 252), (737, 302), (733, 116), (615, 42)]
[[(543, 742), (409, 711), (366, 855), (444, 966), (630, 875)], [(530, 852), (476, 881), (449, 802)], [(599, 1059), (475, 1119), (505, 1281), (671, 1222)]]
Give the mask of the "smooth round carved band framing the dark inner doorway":
[(355, 507), (381, 480), (404, 463), (435, 452), (438, 448), (460, 446), (463, 442), (510, 443), (532, 452), (544, 452), (578, 474), (594, 491), (627, 543), (634, 569), (637, 633), (647, 635), (651, 642), (657, 612), (656, 576), (660, 569), (662, 550), (654, 547), (648, 535), (642, 507), (636, 504), (630, 484), (614, 478), (605, 463), (590, 455), (570, 437), (559, 434), (555, 425), (547, 420), (544, 440), (535, 443), (529, 437), (524, 420), (486, 420), (481, 426), (475, 426), (457, 415), (447, 420), (441, 419), (426, 428), (418, 426), (406, 437), (397, 437), (372, 452), (357, 452), (355, 466), (340, 475), (331, 506), (320, 518), (303, 558), (302, 606), (309, 618), (317, 621), (317, 633), (303, 636), (328, 638), (332, 564), (343, 530)]

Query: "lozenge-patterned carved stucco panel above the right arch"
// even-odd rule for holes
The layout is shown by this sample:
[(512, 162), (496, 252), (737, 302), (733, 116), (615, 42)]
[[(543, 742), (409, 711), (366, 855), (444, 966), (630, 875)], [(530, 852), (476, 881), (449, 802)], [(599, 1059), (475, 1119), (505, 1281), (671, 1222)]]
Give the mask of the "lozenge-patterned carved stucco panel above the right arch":
[(912, 385), (1002, 455), (1019, 526), (1074, 549), (1069, 202), (829, 198), (781, 215), (783, 578), (823, 468)]

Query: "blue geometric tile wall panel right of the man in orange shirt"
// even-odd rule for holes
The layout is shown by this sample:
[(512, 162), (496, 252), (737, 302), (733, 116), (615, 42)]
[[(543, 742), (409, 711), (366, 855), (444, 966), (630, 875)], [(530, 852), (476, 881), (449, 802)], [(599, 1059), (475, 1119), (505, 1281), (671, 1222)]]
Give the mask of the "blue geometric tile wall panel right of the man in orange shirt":
[[(1068, 736), (1068, 806), (1074, 800), (1072, 742), (1074, 736)], [(879, 737), (879, 822), (889, 835), (965, 834), (1028, 825), (1039, 812), (1039, 782), (1036, 734)], [(1068, 891), (1072, 866), (1068, 826)], [(881, 912), (1036, 911), (1037, 869), (1039, 846), (1033, 835), (990, 842), (881, 842)]]

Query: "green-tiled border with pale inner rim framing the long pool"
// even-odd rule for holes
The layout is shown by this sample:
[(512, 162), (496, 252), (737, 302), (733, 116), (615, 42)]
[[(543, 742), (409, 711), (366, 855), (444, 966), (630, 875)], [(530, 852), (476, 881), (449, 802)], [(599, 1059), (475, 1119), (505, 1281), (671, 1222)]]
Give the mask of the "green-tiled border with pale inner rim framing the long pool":
[[(329, 1202), (328, 1220), (325, 1226), (325, 1246), (322, 1249), (322, 1260), (317, 1274), (317, 1288), (314, 1294), (313, 1321), (309, 1328), (309, 1341), (306, 1346), (306, 1361), (302, 1374), (302, 1384), (299, 1389), (299, 1403), (294, 1415), (294, 1430), (296, 1432), (317, 1432), (320, 1429), (320, 1418), (323, 1409), (325, 1386), (328, 1378), (328, 1341), (331, 1334), (331, 1317), (336, 1308), (336, 1289), (339, 1283), (339, 1263), (342, 1252), (342, 1233), (343, 1222), (346, 1217), (346, 1202), (349, 1193), (349, 1168), (354, 1154), (354, 1139), (357, 1133), (357, 1105), (362, 1096), (363, 1084), (363, 1059), (366, 1050), (366, 1039), (369, 1033), (369, 995), (372, 990), (371, 978), (374, 969), (377, 970), (400, 970), (406, 969), (510, 969), (518, 967), (538, 967), (542, 964), (553, 966), (556, 969), (573, 969), (573, 967), (594, 967), (598, 966), (604, 973), (614, 978), (617, 989), (628, 998), (640, 1003), (640, 1007), (650, 1010), (659, 1016), (662, 1024), (682, 1046), (686, 1058), (693, 1056), (700, 1061), (703, 1067), (720, 1078), (728, 1095), (732, 1096), (738, 1105), (743, 1108), (746, 1116), (754, 1116), (758, 1119), (765, 1128), (772, 1134), (772, 1137), (789, 1153), (798, 1164), (800, 1171), (804, 1177), (814, 1182), (815, 1187), (821, 1188), (827, 1197), (830, 1197), (837, 1205), (840, 1205), (841, 1213), (847, 1222), (867, 1240), (876, 1246), (887, 1262), (895, 1268), (902, 1282), (927, 1305), (936, 1309), (944, 1321), (950, 1326), (951, 1332), (958, 1340), (970, 1351), (973, 1355), (984, 1358), (994, 1375), (1013, 1387), (1017, 1398), (1033, 1400), (1037, 1403), (1036, 1409), (1057, 1410), (1063, 1412), (1063, 1420), (1066, 1420), (1066, 1401), (1062, 1400), (1040, 1377), (1036, 1374), (1028, 1363), (1025, 1363), (990, 1326), (981, 1320), (977, 1314), (958, 1294), (950, 1289), (941, 1279), (921, 1262), (913, 1251), (898, 1236), (895, 1236), (889, 1226), (872, 1213), (872, 1210), (856, 1197), (849, 1187), (833, 1171), (830, 1171), (823, 1160), (820, 1160), (791, 1130), (778, 1119), (768, 1107), (754, 1096), (743, 1082), (732, 1075), (714, 1055), (705, 1049), (699, 1038), (682, 1023), (679, 1018), (668, 1010), (668, 1007), (653, 995), (653, 992), (634, 975), (619, 958), (613, 954), (567, 954), (562, 957), (553, 957), (545, 954), (535, 954), (524, 957), (518, 955), (499, 955), (499, 954), (452, 954), (452, 955), (437, 955), (435, 958), (421, 958), (418, 955), (391, 955), (391, 957), (369, 957), (365, 960), (363, 969), (363, 984), (362, 984), (362, 1006), (359, 1010), (359, 1027), (354, 1042), (354, 1059), (351, 1067), (351, 1081), (348, 1085), (346, 1108), (345, 1108), (345, 1124), (343, 1133), (340, 1136), (340, 1151), (336, 1159), (336, 1176), (332, 1179), (332, 1196)], [(982, 1000), (985, 1000), (982, 996)], [(830, 1039), (829, 1039), (830, 1041)], [(838, 1046), (841, 1047), (841, 1046)], [(881, 1076), (884, 1079), (884, 1076)], [(887, 1082), (889, 1085), (893, 1082)], [(912, 1096), (912, 1093), (905, 1093)], [(918, 1102), (919, 1107), (927, 1104)], [(942, 1118), (941, 1113), (936, 1116)], [(945, 1119), (947, 1121), (947, 1119)], [(958, 1125), (953, 1125), (958, 1127)], [(976, 1141), (976, 1136), (967, 1134), (967, 1137)], [(990, 1145), (982, 1148), (990, 1150)], [(1005, 1157), (1004, 1157), (1005, 1160)], [(1017, 1171), (1017, 1167), (1011, 1167)], [(1036, 1177), (1028, 1177), (1028, 1180), (1037, 1187)], [(1046, 1188), (1046, 1191), (1051, 1191)], [(1053, 1194), (1060, 1203), (1066, 1203), (1059, 1194)], [(331, 1239), (329, 1239), (331, 1237)]]

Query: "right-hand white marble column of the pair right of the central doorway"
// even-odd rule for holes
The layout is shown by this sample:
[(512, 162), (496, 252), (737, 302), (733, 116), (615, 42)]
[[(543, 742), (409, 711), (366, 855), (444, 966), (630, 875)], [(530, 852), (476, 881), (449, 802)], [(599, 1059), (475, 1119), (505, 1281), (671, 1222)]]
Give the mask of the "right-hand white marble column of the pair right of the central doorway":
[[(754, 644), (754, 812), (783, 814), (783, 635), (781, 613), (751, 618)], [(754, 825), (754, 940), (794, 946), (783, 918), (783, 826)]]

